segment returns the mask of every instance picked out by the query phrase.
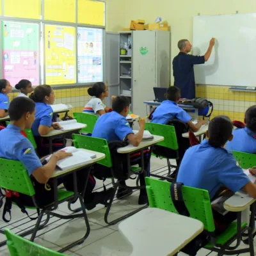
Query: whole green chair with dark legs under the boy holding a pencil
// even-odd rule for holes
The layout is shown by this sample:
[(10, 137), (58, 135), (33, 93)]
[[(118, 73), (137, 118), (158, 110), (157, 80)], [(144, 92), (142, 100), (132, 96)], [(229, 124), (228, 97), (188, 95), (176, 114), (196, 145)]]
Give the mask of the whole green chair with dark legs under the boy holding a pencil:
[[(112, 180), (112, 184), (113, 184), (113, 195), (111, 196), (111, 198), (109, 199), (109, 203), (106, 204), (107, 209), (106, 209), (106, 213), (104, 216), (104, 221), (109, 224), (109, 225), (114, 225), (116, 223), (118, 223), (118, 221), (124, 220), (125, 218), (132, 216), (133, 214), (135, 214), (136, 212), (141, 211), (142, 209), (144, 209), (145, 207), (147, 207), (148, 205), (145, 205), (143, 207), (140, 207), (139, 209), (136, 209), (135, 211), (130, 212), (129, 214), (126, 214), (125, 216), (122, 216), (120, 218), (117, 218), (113, 221), (109, 221), (108, 220), (108, 216), (109, 216), (109, 211), (111, 209), (111, 205), (113, 204), (113, 200), (115, 198), (115, 194), (116, 194), (116, 190), (118, 189), (118, 187), (120, 188), (127, 188), (128, 186), (125, 186), (123, 184), (120, 184), (120, 180), (116, 180), (113, 179), (114, 172), (113, 172), (113, 163), (112, 163), (112, 158), (111, 158), (111, 154), (109, 151), (109, 147), (108, 147), (108, 141), (104, 140), (104, 139), (99, 139), (99, 138), (94, 138), (94, 137), (90, 137), (90, 136), (84, 136), (84, 135), (79, 135), (79, 134), (72, 134), (73, 136), (73, 141), (74, 141), (74, 146), (76, 148), (84, 148), (84, 149), (88, 149), (88, 150), (93, 150), (96, 152), (100, 152), (105, 154), (105, 159), (100, 160), (98, 163), (102, 164), (108, 168), (111, 168), (111, 173), (112, 176), (109, 177), (109, 179)], [(129, 179), (129, 177), (132, 174), (139, 174), (141, 172), (141, 168), (140, 167), (135, 167), (135, 166), (131, 166), (131, 170), (129, 173), (127, 173), (127, 179)], [(132, 189), (138, 189), (138, 187), (128, 187), (128, 188), (132, 188)], [(68, 207), (70, 209), (70, 207)], [(70, 211), (78, 211), (78, 209), (72, 210), (70, 209)]]

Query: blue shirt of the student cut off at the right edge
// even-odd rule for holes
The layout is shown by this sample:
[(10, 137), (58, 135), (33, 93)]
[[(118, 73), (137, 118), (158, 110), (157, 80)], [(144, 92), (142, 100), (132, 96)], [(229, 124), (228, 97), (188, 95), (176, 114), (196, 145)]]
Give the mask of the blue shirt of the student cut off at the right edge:
[(256, 153), (256, 136), (255, 132), (244, 127), (243, 129), (237, 128), (233, 131), (234, 138), (228, 141), (226, 148), (229, 150), (236, 150), (250, 154)]

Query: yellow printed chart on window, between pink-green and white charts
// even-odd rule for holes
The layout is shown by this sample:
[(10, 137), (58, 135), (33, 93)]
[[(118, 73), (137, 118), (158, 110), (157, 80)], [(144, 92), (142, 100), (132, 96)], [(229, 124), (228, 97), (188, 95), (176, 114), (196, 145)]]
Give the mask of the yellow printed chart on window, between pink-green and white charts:
[(45, 82), (76, 83), (76, 29), (45, 25)]

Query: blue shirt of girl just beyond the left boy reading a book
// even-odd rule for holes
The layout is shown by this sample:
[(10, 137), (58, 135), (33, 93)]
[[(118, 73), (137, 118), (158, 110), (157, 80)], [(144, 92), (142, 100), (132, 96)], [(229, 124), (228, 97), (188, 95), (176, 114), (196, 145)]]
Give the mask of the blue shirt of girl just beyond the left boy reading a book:
[(34, 136), (40, 136), (38, 132), (39, 125), (45, 125), (48, 127), (52, 126), (52, 107), (49, 104), (45, 104), (42, 102), (36, 102), (36, 114), (35, 114), (35, 122), (31, 127)]

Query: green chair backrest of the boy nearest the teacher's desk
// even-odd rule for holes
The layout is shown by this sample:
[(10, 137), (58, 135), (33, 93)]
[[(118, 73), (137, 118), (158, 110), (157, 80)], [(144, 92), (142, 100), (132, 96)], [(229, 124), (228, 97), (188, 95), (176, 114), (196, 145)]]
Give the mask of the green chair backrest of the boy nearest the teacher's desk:
[(179, 148), (175, 128), (171, 125), (147, 123), (145, 129), (153, 135), (163, 136), (164, 140), (157, 143), (159, 146), (177, 150)]

